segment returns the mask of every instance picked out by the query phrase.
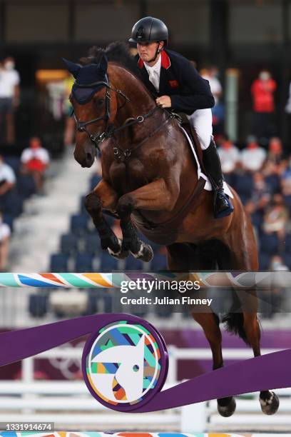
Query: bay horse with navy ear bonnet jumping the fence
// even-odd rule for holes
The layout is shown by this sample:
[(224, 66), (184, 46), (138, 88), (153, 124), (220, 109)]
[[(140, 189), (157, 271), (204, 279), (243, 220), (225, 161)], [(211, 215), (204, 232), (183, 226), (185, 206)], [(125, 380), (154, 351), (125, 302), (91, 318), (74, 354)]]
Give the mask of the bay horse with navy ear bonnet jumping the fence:
[[(150, 241), (166, 246), (170, 270), (256, 271), (252, 224), (238, 194), (231, 189), (233, 214), (213, 218), (213, 194), (198, 180), (185, 135), (133, 74), (136, 63), (126, 46), (113, 43), (105, 51), (93, 47), (81, 65), (64, 61), (76, 79), (70, 97), (77, 128), (74, 157), (82, 167), (91, 167), (96, 148), (101, 151), (102, 179), (86, 196), (85, 205), (102, 248), (116, 258), (131, 253), (150, 261), (153, 251), (138, 237), (138, 228)], [(108, 226), (104, 210), (120, 219), (122, 240)], [(205, 307), (193, 312), (193, 318), (210, 343), (213, 369), (221, 368), (218, 316)], [(260, 356), (257, 306), (229, 313), (225, 323), (251, 346), (254, 356)], [(260, 406), (273, 414), (279, 400), (275, 393), (261, 391)], [(218, 399), (218, 411), (231, 416), (235, 399)]]

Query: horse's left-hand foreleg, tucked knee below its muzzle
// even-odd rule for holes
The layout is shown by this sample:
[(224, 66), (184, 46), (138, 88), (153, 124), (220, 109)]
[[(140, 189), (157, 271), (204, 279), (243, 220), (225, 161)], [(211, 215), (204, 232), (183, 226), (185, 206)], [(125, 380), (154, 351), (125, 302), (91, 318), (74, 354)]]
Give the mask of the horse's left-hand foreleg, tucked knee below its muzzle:
[(108, 252), (116, 258), (126, 258), (128, 252), (122, 250), (121, 240), (112, 231), (102, 213), (102, 209), (114, 210), (117, 199), (116, 192), (102, 179), (86, 196), (85, 207), (96, 226), (101, 239), (101, 247), (108, 249)]

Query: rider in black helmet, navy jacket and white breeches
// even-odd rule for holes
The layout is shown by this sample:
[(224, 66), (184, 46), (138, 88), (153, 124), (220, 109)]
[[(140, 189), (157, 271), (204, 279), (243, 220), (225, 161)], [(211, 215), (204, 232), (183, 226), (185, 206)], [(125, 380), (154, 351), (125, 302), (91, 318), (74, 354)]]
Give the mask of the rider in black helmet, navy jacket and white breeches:
[(223, 191), (220, 159), (213, 141), (211, 107), (213, 95), (208, 81), (194, 66), (175, 51), (165, 50), (168, 44), (167, 26), (151, 16), (139, 20), (128, 40), (137, 44), (138, 70), (141, 80), (155, 96), (158, 106), (190, 116), (203, 149), (203, 164), (213, 186), (214, 216), (225, 217), (233, 206)]

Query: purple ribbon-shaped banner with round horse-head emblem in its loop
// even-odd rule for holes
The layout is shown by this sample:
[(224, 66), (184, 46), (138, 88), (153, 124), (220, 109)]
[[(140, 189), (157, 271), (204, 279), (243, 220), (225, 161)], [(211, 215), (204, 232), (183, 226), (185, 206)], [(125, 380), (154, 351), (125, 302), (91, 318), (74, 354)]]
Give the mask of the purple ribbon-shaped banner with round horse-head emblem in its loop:
[(123, 313), (94, 314), (0, 333), (4, 351), (0, 366), (87, 334), (90, 337), (82, 357), (84, 381), (92, 396), (113, 410), (147, 413), (291, 386), (289, 348), (218, 368), (163, 390), (168, 374), (163, 337), (148, 321)]

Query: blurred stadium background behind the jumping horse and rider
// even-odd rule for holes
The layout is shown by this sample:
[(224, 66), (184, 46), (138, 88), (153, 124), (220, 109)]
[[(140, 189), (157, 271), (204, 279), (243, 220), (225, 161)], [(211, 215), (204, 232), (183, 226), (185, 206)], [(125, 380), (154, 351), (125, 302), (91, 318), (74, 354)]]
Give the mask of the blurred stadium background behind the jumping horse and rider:
[[(73, 159), (72, 79), (61, 61), (78, 61), (93, 45), (126, 41), (146, 15), (165, 21), (169, 48), (193, 61), (210, 81), (225, 179), (252, 216), (260, 269), (290, 270), (291, 0), (0, 0), (1, 271), (165, 268), (162, 246), (153, 245), (150, 264), (132, 257), (117, 262), (101, 251), (83, 206), (101, 179), (100, 163), (81, 169)], [(118, 223), (111, 225), (118, 233)], [(290, 347), (288, 291), (278, 288), (268, 298), (286, 312), (262, 308), (264, 352)], [(4, 288), (0, 330), (97, 311), (116, 311), (112, 291)], [(172, 347), (168, 383), (210, 371), (208, 344), (188, 314), (148, 308), (141, 316), (160, 328)], [(224, 338), (226, 364), (251, 356), (238, 338)], [(272, 418), (260, 413), (257, 398), (241, 398), (240, 413), (231, 419), (218, 417), (215, 403), (131, 419), (96, 414), (96, 401), (80, 381), (82, 344), (0, 368), (3, 420), (44, 420), (51, 414), (65, 426), (106, 431), (290, 429), (290, 391), (281, 393), (280, 415)]]

